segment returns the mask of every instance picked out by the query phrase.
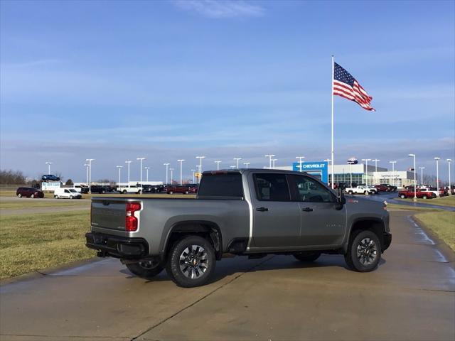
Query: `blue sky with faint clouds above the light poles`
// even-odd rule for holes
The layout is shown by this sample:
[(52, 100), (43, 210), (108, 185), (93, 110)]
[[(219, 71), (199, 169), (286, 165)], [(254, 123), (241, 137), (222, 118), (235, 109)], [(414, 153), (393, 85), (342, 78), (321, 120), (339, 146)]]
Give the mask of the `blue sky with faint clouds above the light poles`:
[[(336, 163), (455, 159), (454, 1), (1, 1), (0, 163), (117, 178), (330, 157), (331, 54), (376, 112), (335, 98)], [(446, 161), (440, 165), (447, 177)], [(455, 168), (455, 167), (454, 167)], [(139, 162), (132, 163), (139, 178)], [(124, 173), (125, 174), (125, 173)], [(455, 178), (455, 177), (453, 177)]]

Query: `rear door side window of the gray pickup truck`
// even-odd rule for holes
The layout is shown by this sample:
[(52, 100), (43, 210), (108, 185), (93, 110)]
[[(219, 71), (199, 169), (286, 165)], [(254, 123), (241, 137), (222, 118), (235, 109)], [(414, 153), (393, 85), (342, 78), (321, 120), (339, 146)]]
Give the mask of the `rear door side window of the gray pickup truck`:
[(256, 197), (259, 201), (290, 201), (286, 175), (257, 173), (255, 178)]

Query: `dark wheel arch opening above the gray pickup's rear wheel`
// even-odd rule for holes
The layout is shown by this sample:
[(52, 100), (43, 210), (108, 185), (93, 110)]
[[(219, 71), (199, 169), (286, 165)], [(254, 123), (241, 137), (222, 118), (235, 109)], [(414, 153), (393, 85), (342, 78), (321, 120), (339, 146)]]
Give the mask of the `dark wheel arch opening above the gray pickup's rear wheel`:
[(171, 246), (186, 235), (200, 235), (207, 238), (215, 249), (216, 259), (221, 259), (223, 255), (223, 236), (218, 224), (210, 220), (183, 220), (171, 225), (164, 240), (162, 256), (166, 258)]

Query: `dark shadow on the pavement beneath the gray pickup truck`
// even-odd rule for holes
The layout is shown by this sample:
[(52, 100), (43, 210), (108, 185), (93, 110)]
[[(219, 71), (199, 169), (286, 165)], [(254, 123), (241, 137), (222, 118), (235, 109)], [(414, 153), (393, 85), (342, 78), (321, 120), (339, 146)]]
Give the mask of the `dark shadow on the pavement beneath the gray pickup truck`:
[[(387, 261), (385, 259), (381, 259), (378, 268), (386, 262)], [(346, 262), (341, 255), (322, 255), (321, 258), (313, 262), (297, 261), (293, 256), (288, 255), (266, 256), (262, 259), (247, 259), (247, 256), (236, 256), (232, 259), (223, 259), (222, 261), (218, 261), (215, 272), (206, 285), (222, 281), (224, 278), (234, 276), (235, 274), (241, 276), (242, 274), (257, 271), (270, 271), (272, 276), (273, 271), (293, 269), (311, 269), (311, 272), (314, 274), (314, 269), (321, 269), (321, 271), (323, 271), (324, 268), (330, 267), (338, 269), (342, 268), (346, 271), (351, 271), (346, 266)], [(127, 279), (138, 278), (138, 276), (132, 274), (126, 268), (120, 270), (119, 272), (127, 275)], [(323, 272), (326, 273), (326, 271)], [(163, 270), (158, 276), (151, 279), (144, 278), (144, 281), (146, 281), (146, 283), (171, 281), (171, 278), (169, 278), (166, 274), (166, 270)]]

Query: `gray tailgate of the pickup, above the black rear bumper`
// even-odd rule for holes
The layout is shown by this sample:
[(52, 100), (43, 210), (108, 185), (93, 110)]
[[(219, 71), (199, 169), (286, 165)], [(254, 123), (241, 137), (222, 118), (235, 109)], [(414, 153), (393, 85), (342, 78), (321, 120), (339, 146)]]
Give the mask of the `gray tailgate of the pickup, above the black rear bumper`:
[(124, 231), (126, 207), (127, 201), (92, 199), (92, 226)]

